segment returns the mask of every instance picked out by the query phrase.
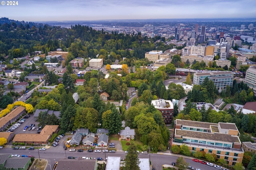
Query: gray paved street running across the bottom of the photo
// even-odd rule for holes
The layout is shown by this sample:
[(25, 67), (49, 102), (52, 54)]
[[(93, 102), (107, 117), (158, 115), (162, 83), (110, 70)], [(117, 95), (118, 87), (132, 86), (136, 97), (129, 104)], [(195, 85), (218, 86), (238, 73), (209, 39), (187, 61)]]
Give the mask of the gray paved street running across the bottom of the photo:
[[(56, 148), (51, 147), (50, 149), (47, 149), (46, 151), (38, 151), (37, 149), (35, 150), (13, 150), (11, 148), (3, 148), (1, 149), (2, 154), (26, 154), (26, 155), (34, 155), (35, 158), (44, 158), (48, 160), (48, 164), (50, 164), (52, 167), (54, 166), (54, 163), (58, 161), (60, 158), (66, 158), (66, 156), (74, 156), (74, 157), (101, 157), (105, 158), (105, 154), (103, 152), (101, 153), (88, 153), (88, 152), (69, 152), (63, 149), (62, 146), (57, 146)], [(39, 154), (38, 154), (39, 153)], [(126, 154), (124, 151), (119, 151), (116, 153), (106, 153), (107, 156), (121, 156), (122, 158), (125, 158)], [(183, 156), (186, 157), (186, 156)], [(164, 164), (171, 164), (172, 162), (176, 162), (176, 159), (178, 158), (177, 156), (170, 155), (168, 153), (158, 153), (158, 154), (139, 154), (139, 158), (150, 158), (150, 161), (152, 162), (152, 167), (155, 168), (156, 170), (162, 170), (162, 165)], [(185, 158), (186, 162), (190, 164), (190, 166), (193, 166), (194, 169), (200, 168), (201, 170), (214, 170), (213, 167), (200, 164), (198, 162), (193, 162), (192, 159), (190, 158)], [(46, 167), (46, 169), (50, 169), (50, 167)]]

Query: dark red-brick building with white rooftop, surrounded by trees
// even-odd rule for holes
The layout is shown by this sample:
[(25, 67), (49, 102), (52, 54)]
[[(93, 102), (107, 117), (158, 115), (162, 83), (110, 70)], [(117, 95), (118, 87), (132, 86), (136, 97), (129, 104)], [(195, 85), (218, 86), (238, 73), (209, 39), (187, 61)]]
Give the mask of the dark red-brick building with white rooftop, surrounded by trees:
[(174, 106), (170, 100), (152, 100), (151, 104), (162, 113), (162, 117), (166, 124), (172, 123)]

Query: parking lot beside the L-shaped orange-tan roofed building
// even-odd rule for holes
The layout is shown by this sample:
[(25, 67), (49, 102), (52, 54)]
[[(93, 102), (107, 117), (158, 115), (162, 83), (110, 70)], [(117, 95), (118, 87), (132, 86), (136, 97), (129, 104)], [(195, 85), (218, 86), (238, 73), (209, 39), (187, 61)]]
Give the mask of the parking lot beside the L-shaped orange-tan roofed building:
[[(36, 129), (38, 128), (38, 124), (39, 124), (39, 122), (37, 122), (37, 121), (35, 121), (34, 120), (34, 117), (33, 117), (33, 115), (32, 114), (28, 114), (28, 115), (30, 115), (30, 117), (28, 117), (28, 118), (24, 118), (25, 116), (23, 116), (21, 119), (24, 119), (25, 121), (24, 121), (24, 123), (21, 123), (20, 124), (20, 126), (18, 127), (18, 128), (16, 128), (13, 132), (14, 132), (14, 134), (20, 134), (20, 133), (37, 133), (38, 131), (36, 131)], [(21, 120), (20, 119), (20, 120)], [(19, 121), (18, 121), (19, 122)], [(24, 128), (26, 127), (26, 126), (30, 126), (31, 124), (35, 124), (35, 129), (34, 130), (28, 130), (29, 129), (29, 127), (26, 129), (26, 131), (23, 131), (24, 130)], [(14, 127), (14, 125), (12, 125), (9, 129), (11, 129), (12, 127)], [(9, 130), (8, 129), (8, 130)], [(8, 131), (7, 130), (7, 131)]]

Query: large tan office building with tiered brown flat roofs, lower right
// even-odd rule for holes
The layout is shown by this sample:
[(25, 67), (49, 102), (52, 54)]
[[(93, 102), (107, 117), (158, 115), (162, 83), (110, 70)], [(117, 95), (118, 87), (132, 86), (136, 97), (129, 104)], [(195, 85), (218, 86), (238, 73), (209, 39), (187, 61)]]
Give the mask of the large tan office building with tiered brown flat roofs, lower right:
[(207, 123), (176, 119), (172, 145), (187, 145), (192, 153), (216, 154), (228, 165), (242, 162), (244, 150), (235, 123)]

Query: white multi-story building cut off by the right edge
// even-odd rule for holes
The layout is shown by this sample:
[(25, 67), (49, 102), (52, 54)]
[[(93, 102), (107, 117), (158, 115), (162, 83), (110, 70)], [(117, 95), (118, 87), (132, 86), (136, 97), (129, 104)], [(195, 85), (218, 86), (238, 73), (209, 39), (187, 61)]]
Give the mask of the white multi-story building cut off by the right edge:
[(249, 88), (252, 88), (254, 95), (256, 95), (256, 66), (247, 69), (245, 83)]

